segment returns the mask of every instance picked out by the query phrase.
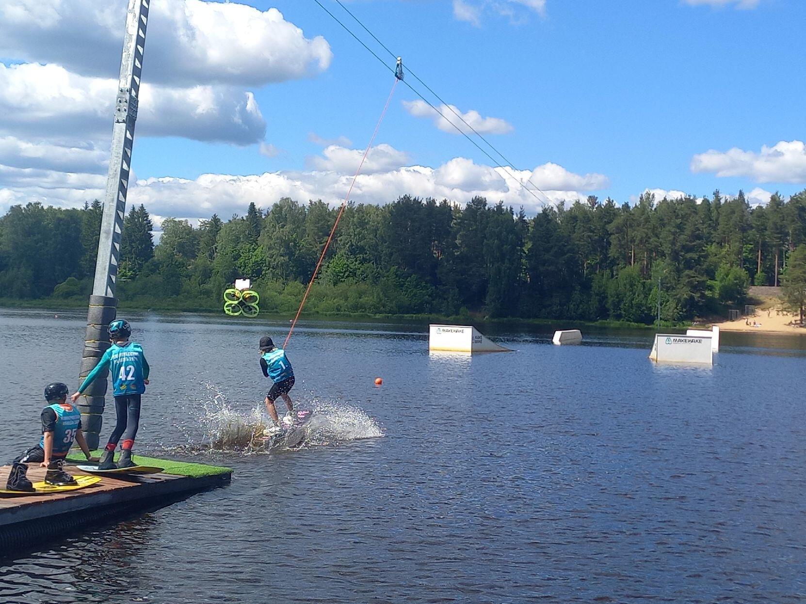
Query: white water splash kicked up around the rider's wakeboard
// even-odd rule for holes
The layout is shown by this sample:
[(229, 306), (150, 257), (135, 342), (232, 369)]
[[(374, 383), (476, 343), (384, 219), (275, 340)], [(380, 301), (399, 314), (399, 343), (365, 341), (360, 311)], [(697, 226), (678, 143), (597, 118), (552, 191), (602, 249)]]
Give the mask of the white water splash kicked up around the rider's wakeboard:
[[(264, 440), (264, 430), (270, 422), (262, 406), (237, 409), (218, 387), (210, 383), (205, 386), (210, 397), (202, 403), (200, 421), (206, 449), (225, 453), (266, 453), (288, 449), (284, 445), (268, 445)], [(312, 410), (314, 415), (303, 427), (305, 436), (301, 444), (293, 449), (384, 435), (376, 420), (354, 405), (316, 397), (310, 401), (299, 400), (296, 405), (297, 408)]]

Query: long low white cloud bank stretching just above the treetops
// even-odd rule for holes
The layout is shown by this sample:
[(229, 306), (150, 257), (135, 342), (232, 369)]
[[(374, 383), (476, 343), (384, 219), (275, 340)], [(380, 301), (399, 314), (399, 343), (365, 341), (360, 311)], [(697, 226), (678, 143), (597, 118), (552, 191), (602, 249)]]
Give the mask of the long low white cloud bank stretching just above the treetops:
[[(548, 164), (534, 171), (511, 168), (491, 168), (473, 163), (470, 159), (455, 158), (438, 168), (400, 165), (405, 153), (388, 145), (379, 145), (382, 152), (368, 158), (371, 172), (359, 175), (351, 192), (356, 203), (387, 204), (403, 194), (418, 197), (448, 199), (465, 204), (476, 195), (486, 197), (490, 203), (504, 201), (505, 205), (536, 213), (546, 203), (569, 203), (583, 200), (588, 192), (575, 189), (606, 186), (601, 175), (575, 175), (559, 166)], [(230, 216), (245, 211), (250, 201), (268, 208), (280, 197), (291, 197), (301, 203), (309, 199), (322, 199), (338, 206), (353, 179), (359, 150), (326, 149), (320, 158), (329, 169), (309, 172), (266, 172), (253, 176), (205, 174), (195, 180), (181, 178), (149, 178), (133, 180), (128, 203), (144, 204), (156, 216), (206, 218), (212, 213)], [(562, 175), (562, 177), (558, 176)], [(521, 183), (530, 177), (542, 188), (537, 192)], [(105, 176), (60, 172), (19, 170), (0, 166), (0, 213), (11, 203), (44, 201), (52, 205), (79, 206), (85, 200), (102, 197)], [(554, 187), (554, 188), (552, 188)]]

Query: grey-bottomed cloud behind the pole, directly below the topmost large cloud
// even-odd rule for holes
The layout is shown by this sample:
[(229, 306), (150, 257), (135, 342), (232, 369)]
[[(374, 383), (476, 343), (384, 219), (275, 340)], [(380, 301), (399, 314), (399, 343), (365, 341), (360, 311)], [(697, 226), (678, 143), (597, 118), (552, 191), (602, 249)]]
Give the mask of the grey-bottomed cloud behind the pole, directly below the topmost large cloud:
[[(0, 131), (26, 138), (107, 139), (117, 81), (85, 77), (55, 64), (0, 64)], [(230, 86), (172, 88), (143, 83), (137, 134), (238, 145), (264, 138), (255, 97)]]

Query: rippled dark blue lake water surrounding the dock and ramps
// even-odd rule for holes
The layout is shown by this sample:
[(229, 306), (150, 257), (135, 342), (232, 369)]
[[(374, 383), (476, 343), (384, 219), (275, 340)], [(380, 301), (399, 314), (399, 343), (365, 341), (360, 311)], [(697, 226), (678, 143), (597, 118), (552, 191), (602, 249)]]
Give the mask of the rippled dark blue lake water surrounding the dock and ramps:
[[(517, 351), (470, 358), (429, 355), (427, 325), (305, 321), (291, 394), (327, 424), (239, 453), (206, 434), (248, 423), (288, 323), (126, 318), (152, 366), (135, 450), (232, 484), (0, 552), (0, 602), (806, 600), (804, 337), (723, 333), (696, 369), (650, 362), (649, 331), (489, 327)], [(76, 385), (84, 319), (0, 311), (2, 461), (44, 385)]]

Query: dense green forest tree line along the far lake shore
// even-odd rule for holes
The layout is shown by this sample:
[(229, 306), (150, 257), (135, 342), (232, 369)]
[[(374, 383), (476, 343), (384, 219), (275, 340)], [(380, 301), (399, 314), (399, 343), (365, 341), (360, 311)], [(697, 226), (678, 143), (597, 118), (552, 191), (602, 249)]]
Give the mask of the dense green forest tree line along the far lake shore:
[[(132, 207), (117, 296), (144, 308), (217, 310), (223, 290), (248, 277), (262, 311), (293, 312), (337, 213), (283, 198), (197, 227), (168, 218), (155, 246), (147, 209)], [(0, 296), (85, 299), (101, 216), (97, 200), (10, 208), (0, 218)], [(462, 207), (403, 196), (347, 206), (305, 308), (648, 324), (660, 304), (663, 321), (689, 321), (739, 308), (750, 283), (783, 279), (799, 291), (804, 244), (806, 191), (752, 209), (742, 192), (660, 201), (647, 192), (634, 205), (591, 196), (534, 217), (483, 197)]]

